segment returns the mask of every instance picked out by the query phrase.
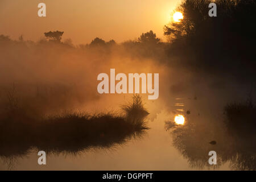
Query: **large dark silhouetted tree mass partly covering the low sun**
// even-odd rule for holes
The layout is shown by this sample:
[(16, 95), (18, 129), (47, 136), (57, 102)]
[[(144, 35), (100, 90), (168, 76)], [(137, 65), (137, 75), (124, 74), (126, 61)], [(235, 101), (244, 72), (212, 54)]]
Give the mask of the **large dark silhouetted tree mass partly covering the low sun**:
[(181, 2), (175, 11), (184, 18), (164, 27), (164, 35), (172, 42), (169, 53), (188, 56), (184, 60), (189, 65), (207, 71), (255, 77), (256, 1), (216, 0), (217, 17), (208, 15), (210, 2)]

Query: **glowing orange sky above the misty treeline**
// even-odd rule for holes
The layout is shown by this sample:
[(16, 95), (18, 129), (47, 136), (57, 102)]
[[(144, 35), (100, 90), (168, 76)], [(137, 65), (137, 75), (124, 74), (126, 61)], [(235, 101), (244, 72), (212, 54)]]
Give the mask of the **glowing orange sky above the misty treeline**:
[[(47, 16), (38, 17), (38, 4), (46, 3)], [(64, 31), (64, 39), (89, 43), (99, 37), (117, 42), (138, 38), (163, 27), (180, 0), (0, 0), (0, 35), (39, 40), (46, 31)]]

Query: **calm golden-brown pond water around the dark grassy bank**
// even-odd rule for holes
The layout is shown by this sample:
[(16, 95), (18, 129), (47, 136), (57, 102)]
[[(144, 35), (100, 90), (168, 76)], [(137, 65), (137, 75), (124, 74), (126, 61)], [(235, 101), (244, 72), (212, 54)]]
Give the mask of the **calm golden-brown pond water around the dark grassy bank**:
[[(28, 155), (13, 159), (2, 159), (0, 169), (14, 170), (230, 170), (241, 169), (240, 164), (255, 161), (250, 151), (238, 150), (223, 125), (223, 108), (226, 103), (243, 100), (246, 89), (232, 92), (228, 89), (195, 89), (186, 93), (172, 93), (159, 100), (147, 100), (143, 96), (145, 107), (149, 111), (146, 118), (150, 127), (140, 138), (129, 139), (121, 145), (110, 148), (90, 148), (79, 154), (47, 154), (47, 164), (38, 164), (38, 150), (31, 150)], [(224, 92), (225, 91), (225, 92)], [(242, 93), (243, 92), (243, 93)], [(162, 97), (161, 97), (162, 96)], [(123, 102), (130, 100), (130, 95), (105, 95), (100, 100), (87, 103), (80, 109), (86, 111), (119, 111)], [(107, 108), (107, 109), (106, 109)], [(189, 112), (188, 112), (189, 111)], [(174, 117), (181, 114), (184, 125), (174, 125)], [(217, 144), (210, 144), (214, 140)], [(254, 147), (254, 146), (253, 146)], [(217, 152), (217, 165), (208, 164), (208, 152)], [(241, 157), (234, 159), (238, 151)], [(248, 154), (249, 152), (249, 154)], [(250, 153), (251, 152), (251, 153)]]

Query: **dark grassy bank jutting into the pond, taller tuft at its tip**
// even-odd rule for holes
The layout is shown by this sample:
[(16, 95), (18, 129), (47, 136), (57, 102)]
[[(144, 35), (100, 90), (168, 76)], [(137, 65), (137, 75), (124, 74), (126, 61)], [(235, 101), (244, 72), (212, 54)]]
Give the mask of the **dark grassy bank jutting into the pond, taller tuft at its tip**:
[(124, 115), (65, 111), (53, 117), (34, 119), (21, 108), (9, 110), (2, 113), (0, 119), (0, 156), (22, 156), (32, 148), (76, 154), (91, 147), (111, 147), (139, 137), (147, 129), (146, 110), (142, 102), (137, 102), (141, 98), (136, 98), (123, 106), (126, 108)]

